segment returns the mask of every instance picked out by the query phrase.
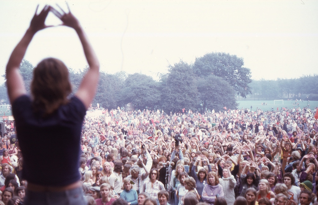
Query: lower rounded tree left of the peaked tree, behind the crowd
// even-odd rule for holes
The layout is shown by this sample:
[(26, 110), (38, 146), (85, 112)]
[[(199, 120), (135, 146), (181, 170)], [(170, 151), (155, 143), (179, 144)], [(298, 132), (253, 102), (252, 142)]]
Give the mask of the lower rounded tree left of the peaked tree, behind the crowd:
[(135, 109), (154, 109), (161, 97), (159, 83), (150, 76), (135, 73), (128, 75), (121, 92), (121, 104), (133, 104)]

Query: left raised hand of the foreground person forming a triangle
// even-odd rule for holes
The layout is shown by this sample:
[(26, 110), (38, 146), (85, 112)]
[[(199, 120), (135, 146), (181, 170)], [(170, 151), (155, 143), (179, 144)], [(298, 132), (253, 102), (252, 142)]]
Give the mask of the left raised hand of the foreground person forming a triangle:
[(51, 6), (45, 5), (42, 11), (39, 14), (37, 14), (38, 7), (39, 5), (37, 6), (37, 9), (35, 10), (35, 14), (30, 23), (30, 29), (34, 33), (36, 33), (39, 30), (45, 29), (47, 27), (51, 27), (51, 26), (45, 25), (45, 19), (47, 15), (49, 14)]

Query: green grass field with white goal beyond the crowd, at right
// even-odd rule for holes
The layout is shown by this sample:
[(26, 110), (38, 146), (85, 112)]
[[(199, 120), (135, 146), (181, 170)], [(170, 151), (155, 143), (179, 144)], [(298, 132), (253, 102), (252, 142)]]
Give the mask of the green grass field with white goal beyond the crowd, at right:
[[(239, 100), (238, 101), (239, 106), (238, 108), (241, 109), (243, 108), (248, 108), (251, 109), (251, 105), (252, 105), (252, 110), (256, 110), (256, 108), (258, 107), (259, 109), (262, 109), (264, 111), (268, 111), (271, 110), (272, 107), (274, 108), (274, 110), (277, 110), (280, 108), (287, 108), (287, 109), (292, 109), (294, 107), (298, 107), (298, 105), (294, 105), (293, 103), (295, 103), (295, 101), (288, 101), (288, 100), (284, 100), (284, 104), (282, 104), (281, 101), (276, 101), (275, 105), (274, 105), (274, 100)], [(267, 103), (267, 105), (262, 105), (262, 103)], [(297, 101), (297, 103), (299, 103), (299, 107), (304, 108), (307, 106), (307, 101)], [(309, 108), (310, 109), (315, 109), (315, 107), (318, 107), (318, 101), (310, 101), (309, 102)]]

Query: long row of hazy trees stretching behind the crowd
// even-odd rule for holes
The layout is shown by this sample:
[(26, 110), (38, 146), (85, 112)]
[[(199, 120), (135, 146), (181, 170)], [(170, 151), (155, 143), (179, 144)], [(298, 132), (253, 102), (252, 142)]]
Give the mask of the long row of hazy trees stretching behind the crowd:
[[(34, 66), (27, 60), (20, 72), (30, 93)], [(88, 67), (69, 69), (70, 81), (76, 91)], [(237, 109), (237, 99), (255, 100), (300, 98), (318, 99), (318, 76), (269, 81), (251, 80), (251, 71), (244, 67), (243, 58), (228, 53), (208, 53), (197, 57), (193, 64), (180, 62), (168, 66), (168, 73), (158, 74), (159, 80), (140, 73), (100, 71), (100, 80), (93, 106), (116, 109), (127, 104), (135, 109), (160, 109), (182, 112), (183, 109), (204, 112)], [(5, 77), (5, 76), (4, 76)], [(9, 103), (5, 85), (0, 86), (0, 102)]]

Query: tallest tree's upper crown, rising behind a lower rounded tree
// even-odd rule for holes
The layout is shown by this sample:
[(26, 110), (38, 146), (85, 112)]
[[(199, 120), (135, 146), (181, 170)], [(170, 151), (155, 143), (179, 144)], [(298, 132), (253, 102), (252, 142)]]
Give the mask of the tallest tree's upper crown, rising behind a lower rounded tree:
[(243, 58), (228, 53), (208, 53), (196, 58), (193, 72), (199, 77), (215, 75), (226, 80), (242, 97), (251, 93), (248, 86), (251, 80), (251, 71), (243, 67)]

